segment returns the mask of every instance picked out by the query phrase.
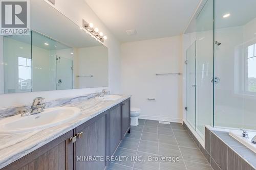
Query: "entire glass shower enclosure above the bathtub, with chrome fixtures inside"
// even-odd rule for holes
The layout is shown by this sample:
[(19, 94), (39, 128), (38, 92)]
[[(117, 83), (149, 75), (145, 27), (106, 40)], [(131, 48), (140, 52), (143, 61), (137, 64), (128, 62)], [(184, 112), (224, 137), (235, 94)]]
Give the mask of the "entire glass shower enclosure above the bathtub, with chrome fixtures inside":
[(202, 1), (184, 35), (186, 121), (256, 130), (256, 1)]

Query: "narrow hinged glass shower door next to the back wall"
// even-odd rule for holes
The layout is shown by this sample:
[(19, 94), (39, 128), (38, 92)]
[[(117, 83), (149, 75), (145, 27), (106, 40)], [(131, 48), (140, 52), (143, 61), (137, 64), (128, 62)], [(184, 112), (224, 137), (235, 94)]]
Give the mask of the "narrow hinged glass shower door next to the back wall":
[(196, 41), (186, 51), (186, 120), (196, 129)]

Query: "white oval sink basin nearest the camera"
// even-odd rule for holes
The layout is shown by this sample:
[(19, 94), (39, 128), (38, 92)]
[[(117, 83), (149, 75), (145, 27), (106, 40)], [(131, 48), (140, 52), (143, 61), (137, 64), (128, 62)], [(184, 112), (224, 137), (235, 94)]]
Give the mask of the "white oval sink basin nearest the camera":
[(56, 107), (29, 116), (20, 114), (0, 120), (0, 134), (17, 134), (63, 124), (80, 114), (76, 107)]

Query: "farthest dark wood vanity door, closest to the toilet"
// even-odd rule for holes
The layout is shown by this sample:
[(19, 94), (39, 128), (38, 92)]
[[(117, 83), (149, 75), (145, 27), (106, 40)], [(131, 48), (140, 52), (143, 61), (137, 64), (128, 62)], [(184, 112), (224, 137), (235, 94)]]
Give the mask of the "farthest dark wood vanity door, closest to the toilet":
[(123, 102), (122, 134), (123, 137), (130, 130), (130, 99)]

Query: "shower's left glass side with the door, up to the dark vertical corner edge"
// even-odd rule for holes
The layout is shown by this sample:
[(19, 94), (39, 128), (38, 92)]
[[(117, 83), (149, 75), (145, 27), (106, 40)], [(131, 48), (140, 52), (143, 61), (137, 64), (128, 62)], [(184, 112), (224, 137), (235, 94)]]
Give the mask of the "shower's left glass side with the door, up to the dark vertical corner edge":
[(191, 20), (184, 39), (188, 44), (186, 68), (186, 120), (204, 137), (204, 126), (213, 126), (214, 1), (206, 1)]

